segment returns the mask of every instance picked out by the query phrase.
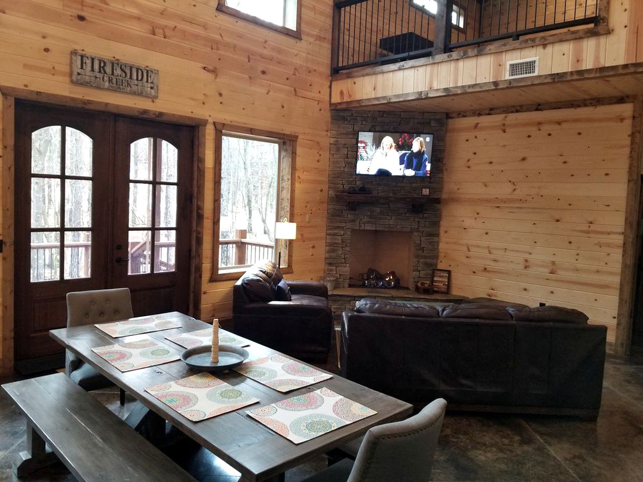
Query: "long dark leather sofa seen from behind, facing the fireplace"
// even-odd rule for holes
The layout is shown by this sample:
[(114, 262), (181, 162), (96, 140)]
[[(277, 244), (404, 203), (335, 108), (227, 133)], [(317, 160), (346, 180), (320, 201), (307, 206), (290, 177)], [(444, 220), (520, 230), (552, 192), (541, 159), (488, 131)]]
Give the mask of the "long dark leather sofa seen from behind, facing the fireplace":
[(577, 310), (471, 299), (362, 299), (341, 319), (341, 373), (407, 402), (595, 419), (606, 326)]

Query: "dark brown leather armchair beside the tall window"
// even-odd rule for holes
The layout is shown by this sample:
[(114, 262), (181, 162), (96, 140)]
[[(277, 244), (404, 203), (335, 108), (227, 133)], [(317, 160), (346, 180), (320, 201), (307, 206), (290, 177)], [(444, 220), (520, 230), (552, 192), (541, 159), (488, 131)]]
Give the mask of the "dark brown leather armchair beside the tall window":
[(233, 332), (312, 363), (331, 350), (328, 289), (318, 281), (286, 281), (272, 261), (258, 262), (233, 288)]

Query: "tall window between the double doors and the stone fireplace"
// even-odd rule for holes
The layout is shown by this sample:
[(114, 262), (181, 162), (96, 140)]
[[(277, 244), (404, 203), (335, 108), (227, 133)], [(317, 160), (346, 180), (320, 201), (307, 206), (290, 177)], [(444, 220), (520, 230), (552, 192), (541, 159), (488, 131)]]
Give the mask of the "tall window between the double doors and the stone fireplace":
[[(215, 186), (213, 280), (238, 276), (253, 263), (276, 262), (275, 223), (289, 219), (293, 139), (257, 131), (217, 130), (221, 158)], [(217, 195), (218, 193), (218, 195)], [(217, 229), (218, 228), (218, 229)], [(217, 232), (218, 231), (218, 232)], [(289, 245), (282, 241), (281, 267), (289, 266)]]

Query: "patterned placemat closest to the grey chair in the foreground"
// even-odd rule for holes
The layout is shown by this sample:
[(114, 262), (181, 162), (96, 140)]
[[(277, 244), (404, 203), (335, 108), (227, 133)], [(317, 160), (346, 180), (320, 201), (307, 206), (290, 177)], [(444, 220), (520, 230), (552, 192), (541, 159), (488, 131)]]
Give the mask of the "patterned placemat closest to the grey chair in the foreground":
[(302, 443), (377, 412), (320, 388), (246, 413), (291, 442)]

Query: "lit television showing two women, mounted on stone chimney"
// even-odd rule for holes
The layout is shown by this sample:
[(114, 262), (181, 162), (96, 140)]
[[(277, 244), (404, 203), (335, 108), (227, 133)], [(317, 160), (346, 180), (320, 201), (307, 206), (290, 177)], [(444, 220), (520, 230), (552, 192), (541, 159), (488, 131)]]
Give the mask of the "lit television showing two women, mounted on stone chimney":
[(356, 174), (428, 177), (433, 134), (359, 132)]

